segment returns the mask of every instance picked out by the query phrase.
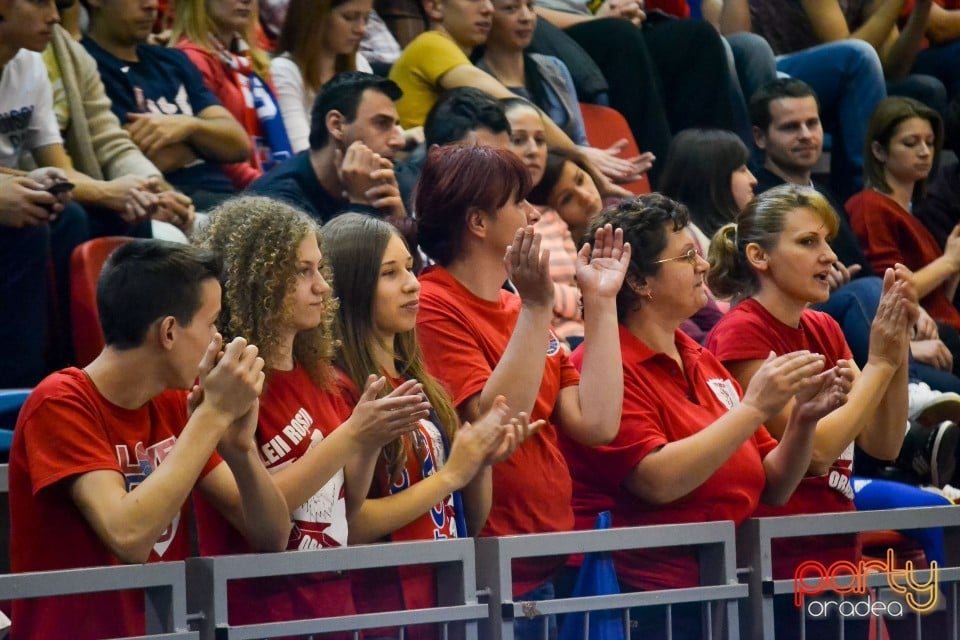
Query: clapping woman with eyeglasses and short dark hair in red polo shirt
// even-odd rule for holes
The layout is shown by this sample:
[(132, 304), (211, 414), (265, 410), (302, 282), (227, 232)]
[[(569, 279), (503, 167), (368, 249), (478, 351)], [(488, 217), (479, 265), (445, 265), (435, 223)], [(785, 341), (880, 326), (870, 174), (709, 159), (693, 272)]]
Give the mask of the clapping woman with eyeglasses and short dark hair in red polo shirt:
[[(734, 377), (680, 324), (707, 301), (707, 261), (689, 229), (689, 214), (660, 194), (626, 200), (591, 223), (622, 231), (634, 247), (617, 294), (624, 393), (613, 442), (591, 448), (561, 436), (573, 476), (579, 529), (609, 510), (614, 526), (733, 520), (762, 500), (782, 504), (807, 469), (817, 420), (845, 401), (842, 367), (797, 351), (767, 358), (741, 393)], [(590, 345), (574, 351), (579, 366)], [(797, 397), (785, 437), (763, 423)], [(643, 591), (699, 584), (690, 548), (615, 555), (621, 585)], [(688, 610), (689, 609), (689, 610)], [(663, 607), (631, 612), (636, 638), (666, 636)], [(705, 637), (696, 605), (674, 605), (674, 638)]]

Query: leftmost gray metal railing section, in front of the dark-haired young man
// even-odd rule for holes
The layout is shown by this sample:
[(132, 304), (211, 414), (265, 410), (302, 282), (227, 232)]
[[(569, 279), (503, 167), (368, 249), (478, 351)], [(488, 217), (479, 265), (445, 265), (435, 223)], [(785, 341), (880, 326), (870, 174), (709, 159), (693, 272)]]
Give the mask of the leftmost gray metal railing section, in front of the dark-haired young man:
[[(38, 571), (0, 576), (0, 600), (143, 589), (146, 632), (135, 640), (197, 640), (187, 626), (183, 562)], [(16, 627), (17, 621), (13, 620)]]

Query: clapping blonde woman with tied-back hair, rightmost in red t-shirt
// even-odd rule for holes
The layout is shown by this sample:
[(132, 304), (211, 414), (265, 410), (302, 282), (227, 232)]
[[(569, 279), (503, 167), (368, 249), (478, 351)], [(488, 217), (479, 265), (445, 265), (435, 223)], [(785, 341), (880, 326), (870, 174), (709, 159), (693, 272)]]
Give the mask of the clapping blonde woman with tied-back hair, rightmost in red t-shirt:
[[(884, 274), (869, 355), (860, 371), (836, 321), (808, 308), (830, 295), (828, 274), (837, 256), (828, 243), (837, 227), (837, 215), (823, 196), (783, 185), (751, 200), (736, 224), (722, 227), (711, 244), (710, 288), (731, 297), (736, 306), (714, 327), (707, 347), (740, 384), (756, 380), (767, 354), (796, 349), (822, 354), (826, 366), (841, 367), (851, 382), (848, 402), (816, 424), (807, 477), (786, 505), (760, 509), (761, 516), (853, 511), (854, 442), (879, 460), (896, 458), (903, 442), (910, 327), (919, 313), (911, 274), (902, 265)], [(774, 437), (786, 440), (798, 408), (791, 401), (770, 416), (766, 425)], [(793, 578), (799, 563), (807, 560), (829, 565), (859, 559), (855, 536), (779, 542), (773, 547), (777, 579)], [(778, 620), (789, 621), (782, 629), (778, 623), (777, 638), (795, 637), (792, 600), (777, 605), (784, 609)], [(808, 628), (807, 635), (832, 637), (836, 621), (831, 625), (815, 633)], [(850, 631), (848, 627), (848, 637)]]

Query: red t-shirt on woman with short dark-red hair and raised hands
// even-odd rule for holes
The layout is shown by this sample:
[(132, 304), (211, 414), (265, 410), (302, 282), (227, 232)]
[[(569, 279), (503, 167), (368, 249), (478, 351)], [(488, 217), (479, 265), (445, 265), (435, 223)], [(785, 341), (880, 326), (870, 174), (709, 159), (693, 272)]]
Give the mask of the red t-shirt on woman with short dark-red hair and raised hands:
[[(496, 302), (483, 300), (438, 266), (425, 269), (420, 284), (420, 346), (430, 373), (459, 407), (483, 390), (500, 362), (520, 315), (520, 298), (501, 290)], [(481, 536), (573, 528), (570, 471), (550, 418), (560, 389), (579, 384), (580, 378), (552, 331), (544, 336), (544, 349), (543, 381), (531, 417), (547, 425), (493, 467), (493, 507)], [(543, 584), (562, 564), (563, 558), (514, 562), (514, 595)]]

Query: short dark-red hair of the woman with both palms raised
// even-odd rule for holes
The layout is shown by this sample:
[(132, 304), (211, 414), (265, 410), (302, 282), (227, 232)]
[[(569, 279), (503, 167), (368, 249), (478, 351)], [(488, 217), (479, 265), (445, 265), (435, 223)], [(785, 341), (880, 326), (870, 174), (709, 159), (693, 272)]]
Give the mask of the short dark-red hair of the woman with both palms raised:
[(447, 145), (434, 147), (414, 190), (420, 246), (439, 265), (450, 264), (463, 248), (467, 213), (493, 213), (512, 198), (525, 198), (530, 173), (505, 149)]

